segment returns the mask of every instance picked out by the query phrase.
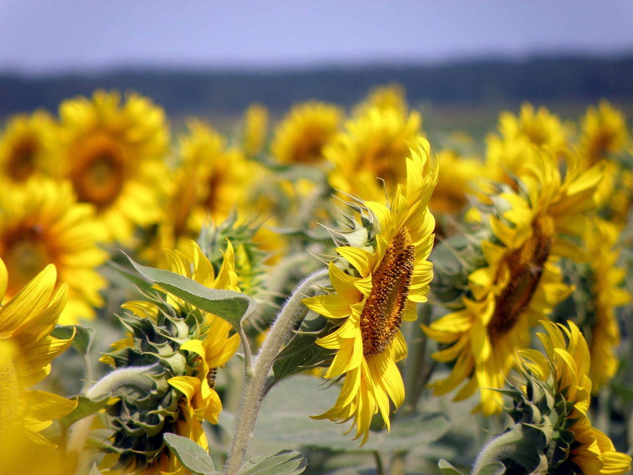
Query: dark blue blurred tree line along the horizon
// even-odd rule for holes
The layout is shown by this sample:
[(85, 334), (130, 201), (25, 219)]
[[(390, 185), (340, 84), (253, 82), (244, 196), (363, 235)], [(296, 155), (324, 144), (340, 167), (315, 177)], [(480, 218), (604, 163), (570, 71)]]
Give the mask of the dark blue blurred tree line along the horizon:
[(541, 57), (435, 66), (362, 66), (303, 72), (119, 70), (102, 74), (0, 75), (0, 113), (46, 108), (95, 89), (137, 91), (169, 114), (241, 113), (263, 103), (273, 112), (319, 99), (349, 106), (375, 85), (398, 82), (412, 104), (595, 102), (633, 99), (633, 54), (616, 58)]

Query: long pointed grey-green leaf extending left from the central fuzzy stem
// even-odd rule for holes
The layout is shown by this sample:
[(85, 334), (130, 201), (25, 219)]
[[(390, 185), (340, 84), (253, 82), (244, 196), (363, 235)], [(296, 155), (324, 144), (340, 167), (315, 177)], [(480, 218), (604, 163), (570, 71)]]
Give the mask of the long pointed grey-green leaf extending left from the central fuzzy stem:
[(210, 289), (175, 272), (145, 267), (129, 256), (127, 258), (141, 276), (159, 284), (161, 288), (187, 303), (227, 320), (236, 329), (242, 319), (255, 309), (255, 301), (248, 295), (231, 290)]

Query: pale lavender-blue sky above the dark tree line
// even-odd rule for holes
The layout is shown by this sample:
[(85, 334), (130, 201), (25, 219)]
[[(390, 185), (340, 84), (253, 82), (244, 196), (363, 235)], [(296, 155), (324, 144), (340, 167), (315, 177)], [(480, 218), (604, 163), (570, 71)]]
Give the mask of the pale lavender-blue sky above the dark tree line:
[(633, 0), (0, 0), (0, 72), (633, 52)]

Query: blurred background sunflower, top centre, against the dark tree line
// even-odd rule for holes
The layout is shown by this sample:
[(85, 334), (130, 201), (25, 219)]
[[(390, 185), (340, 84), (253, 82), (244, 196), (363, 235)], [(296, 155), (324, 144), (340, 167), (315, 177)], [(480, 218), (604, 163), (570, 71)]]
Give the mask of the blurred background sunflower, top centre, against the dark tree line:
[(342, 110), (311, 101), (299, 104), (275, 127), (270, 153), (279, 163), (314, 164), (323, 161), (323, 146), (338, 132)]

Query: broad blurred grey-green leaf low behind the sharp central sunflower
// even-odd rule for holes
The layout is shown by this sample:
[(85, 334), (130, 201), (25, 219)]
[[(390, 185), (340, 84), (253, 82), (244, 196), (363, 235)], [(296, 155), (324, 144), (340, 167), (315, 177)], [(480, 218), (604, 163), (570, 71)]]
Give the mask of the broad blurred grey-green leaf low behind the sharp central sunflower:
[(344, 434), (349, 426), (310, 419), (310, 415), (329, 410), (339, 391), (338, 386), (328, 388), (325, 379), (313, 376), (298, 375), (280, 381), (263, 402), (254, 436), (267, 441), (294, 443), (294, 447), (310, 445), (352, 452), (384, 452), (428, 445), (449, 429), (444, 414), (414, 414), (392, 420), (391, 433), (371, 431), (367, 443), (359, 447), (360, 442), (352, 440), (353, 434)]

